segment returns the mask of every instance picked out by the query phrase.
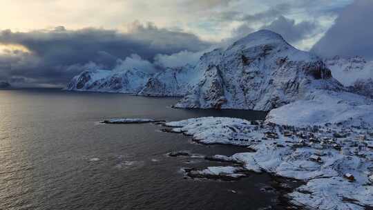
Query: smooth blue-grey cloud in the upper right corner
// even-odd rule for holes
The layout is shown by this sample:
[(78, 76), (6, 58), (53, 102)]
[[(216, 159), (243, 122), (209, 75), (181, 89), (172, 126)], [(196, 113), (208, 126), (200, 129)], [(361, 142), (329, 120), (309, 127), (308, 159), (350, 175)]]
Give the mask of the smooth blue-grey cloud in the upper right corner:
[(334, 25), (312, 50), (323, 57), (361, 55), (373, 59), (373, 1), (356, 0), (342, 10)]

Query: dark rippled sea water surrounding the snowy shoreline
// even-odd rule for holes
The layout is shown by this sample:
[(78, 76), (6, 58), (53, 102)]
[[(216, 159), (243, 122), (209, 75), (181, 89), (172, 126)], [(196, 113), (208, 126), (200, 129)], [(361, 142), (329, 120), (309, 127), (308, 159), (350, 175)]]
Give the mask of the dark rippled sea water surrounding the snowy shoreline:
[[(245, 149), (191, 144), (155, 124), (97, 124), (111, 117), (183, 120), (265, 117), (254, 111), (173, 109), (175, 98), (60, 90), (0, 90), (0, 209), (259, 209), (269, 175), (237, 182), (184, 179), (182, 167), (223, 165), (170, 151), (232, 155)], [(231, 190), (237, 193), (232, 193)]]

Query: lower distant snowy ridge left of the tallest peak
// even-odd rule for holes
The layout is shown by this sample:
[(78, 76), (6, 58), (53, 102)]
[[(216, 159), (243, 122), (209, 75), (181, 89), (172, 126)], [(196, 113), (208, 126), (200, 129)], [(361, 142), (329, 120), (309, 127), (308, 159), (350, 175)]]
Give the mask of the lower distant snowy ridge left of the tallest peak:
[(124, 71), (86, 70), (75, 76), (65, 90), (182, 97), (197, 82), (193, 78), (198, 78), (198, 72), (190, 65), (166, 68), (157, 73), (136, 68)]

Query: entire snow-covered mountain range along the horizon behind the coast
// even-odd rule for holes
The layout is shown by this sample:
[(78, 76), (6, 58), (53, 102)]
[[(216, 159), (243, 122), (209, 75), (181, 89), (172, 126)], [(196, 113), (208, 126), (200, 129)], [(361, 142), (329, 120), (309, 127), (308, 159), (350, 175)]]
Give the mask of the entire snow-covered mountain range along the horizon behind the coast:
[[(175, 104), (176, 108), (269, 111), (291, 102), (315, 98), (329, 90), (370, 95), (372, 79), (367, 76), (358, 81), (352, 79), (351, 84), (348, 79), (356, 76), (356, 72), (369, 75), (371, 66), (361, 57), (335, 57), (323, 61), (289, 45), (275, 32), (260, 30), (228, 48), (205, 53), (195, 67), (166, 68), (157, 73), (137, 68), (84, 71), (74, 77), (66, 89), (184, 96)], [(334, 75), (350, 88), (345, 88)]]

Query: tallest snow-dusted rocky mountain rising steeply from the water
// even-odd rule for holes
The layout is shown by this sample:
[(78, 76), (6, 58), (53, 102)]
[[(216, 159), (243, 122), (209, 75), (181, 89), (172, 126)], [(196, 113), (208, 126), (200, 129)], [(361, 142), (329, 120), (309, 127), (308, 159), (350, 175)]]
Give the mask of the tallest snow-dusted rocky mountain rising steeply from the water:
[(175, 107), (269, 111), (317, 89), (343, 89), (320, 58), (269, 30), (207, 53), (195, 68), (203, 76)]

